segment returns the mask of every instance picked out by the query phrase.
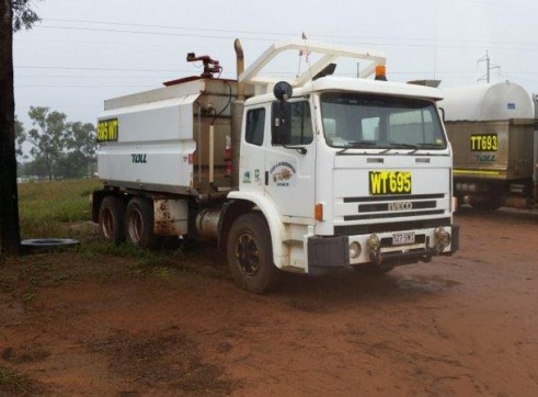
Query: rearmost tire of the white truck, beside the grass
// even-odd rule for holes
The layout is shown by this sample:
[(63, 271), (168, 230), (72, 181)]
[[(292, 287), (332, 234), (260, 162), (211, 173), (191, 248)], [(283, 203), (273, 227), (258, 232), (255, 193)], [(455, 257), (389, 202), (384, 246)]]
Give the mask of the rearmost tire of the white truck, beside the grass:
[(104, 238), (116, 246), (125, 241), (125, 203), (116, 196), (108, 195), (99, 208), (99, 228)]

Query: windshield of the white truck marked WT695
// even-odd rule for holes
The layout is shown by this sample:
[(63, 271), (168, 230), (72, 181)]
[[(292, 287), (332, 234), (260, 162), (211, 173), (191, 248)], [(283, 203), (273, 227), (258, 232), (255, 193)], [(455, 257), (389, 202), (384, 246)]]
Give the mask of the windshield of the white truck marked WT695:
[(328, 92), (321, 95), (321, 117), (325, 140), (336, 148), (447, 147), (437, 110), (425, 100)]

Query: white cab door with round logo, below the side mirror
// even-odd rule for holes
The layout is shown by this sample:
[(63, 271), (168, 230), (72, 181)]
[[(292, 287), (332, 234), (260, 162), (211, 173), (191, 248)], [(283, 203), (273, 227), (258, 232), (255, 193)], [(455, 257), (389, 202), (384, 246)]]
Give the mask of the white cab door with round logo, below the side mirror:
[(290, 105), (288, 143), (278, 144), (275, 136), (265, 139), (265, 192), (282, 215), (313, 218), (316, 143), (312, 112), (306, 100), (294, 101)]

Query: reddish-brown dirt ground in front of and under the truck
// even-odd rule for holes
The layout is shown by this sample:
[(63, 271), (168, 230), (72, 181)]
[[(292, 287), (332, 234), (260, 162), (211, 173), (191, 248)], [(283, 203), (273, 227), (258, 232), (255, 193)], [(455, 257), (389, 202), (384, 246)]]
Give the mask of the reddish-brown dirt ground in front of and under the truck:
[(0, 367), (27, 375), (28, 394), (536, 396), (538, 216), (456, 217), (451, 258), (287, 276), (267, 296), (239, 291), (207, 250), (145, 266), (10, 261)]

